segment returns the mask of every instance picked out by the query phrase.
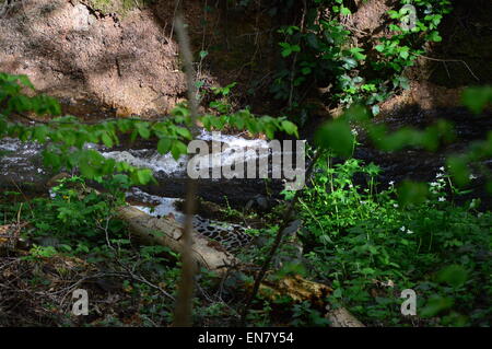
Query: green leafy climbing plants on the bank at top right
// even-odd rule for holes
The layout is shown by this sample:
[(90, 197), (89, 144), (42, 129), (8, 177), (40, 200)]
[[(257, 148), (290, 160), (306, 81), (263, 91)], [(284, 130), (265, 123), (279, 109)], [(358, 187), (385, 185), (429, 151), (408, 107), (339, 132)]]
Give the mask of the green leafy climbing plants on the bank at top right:
[[(294, 7), (283, 1), (286, 9)], [(424, 53), (426, 43), (440, 42), (437, 27), (450, 12), (447, 0), (401, 0), (400, 10), (388, 12), (388, 35), (355, 40), (358, 33), (345, 26), (351, 15), (349, 1), (307, 1), (304, 26), (289, 25), (279, 30), (279, 43), (285, 63), (277, 72), (271, 90), (276, 98), (290, 101), (293, 108), (301, 106), (306, 89), (313, 85), (332, 85), (332, 101), (328, 103), (365, 104), (378, 114), (377, 103), (391, 92), (408, 89), (405, 69), (413, 66)], [(417, 22), (408, 24), (408, 4), (417, 7)], [(376, 77), (376, 78), (374, 78)]]

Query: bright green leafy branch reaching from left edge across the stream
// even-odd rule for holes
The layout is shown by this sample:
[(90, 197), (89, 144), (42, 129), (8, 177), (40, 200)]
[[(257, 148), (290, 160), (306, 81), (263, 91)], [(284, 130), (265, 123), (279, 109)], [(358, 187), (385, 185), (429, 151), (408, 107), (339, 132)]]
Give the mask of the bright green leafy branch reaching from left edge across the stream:
[[(216, 93), (226, 95), (233, 86), (234, 84), (229, 85)], [(106, 159), (97, 151), (87, 149), (86, 144), (102, 143), (110, 148), (119, 144), (119, 135), (129, 135), (130, 141), (154, 138), (160, 153), (171, 152), (174, 159), (178, 159), (187, 153), (186, 142), (192, 139), (189, 131), (192, 124), (185, 105), (177, 106), (171, 117), (156, 121), (125, 118), (84, 124), (73, 116), (62, 116), (35, 126), (13, 123), (9, 118), (13, 114), (33, 112), (37, 115), (59, 115), (61, 112), (56, 100), (44, 95), (30, 97), (23, 93), (24, 88), (34, 91), (27, 77), (0, 73), (0, 138), (13, 137), (22, 141), (47, 143), (43, 152), (44, 162), (55, 171), (79, 168), (85, 178), (98, 182), (119, 174), (121, 184), (149, 184), (154, 181), (150, 170)], [(218, 108), (219, 112), (230, 110), (225, 105)], [(297, 135), (296, 126), (285, 118), (256, 117), (248, 109), (202, 115), (199, 121), (208, 130), (220, 130), (229, 126), (246, 129), (254, 135), (265, 133), (269, 138), (273, 138), (277, 131)]]

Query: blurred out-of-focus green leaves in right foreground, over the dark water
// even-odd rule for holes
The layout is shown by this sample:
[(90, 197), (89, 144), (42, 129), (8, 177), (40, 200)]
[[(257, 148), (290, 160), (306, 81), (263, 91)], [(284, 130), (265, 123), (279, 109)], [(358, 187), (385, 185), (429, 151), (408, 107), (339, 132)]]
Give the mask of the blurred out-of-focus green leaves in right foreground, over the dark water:
[[(483, 88), (489, 89), (489, 88)], [(465, 91), (465, 98), (473, 98), (478, 95), (483, 101), (482, 90), (470, 88)], [(473, 104), (475, 102), (470, 102)], [(480, 104), (485, 107), (485, 103)], [(481, 110), (481, 109), (480, 109)], [(356, 144), (358, 126), (364, 130), (373, 144), (384, 151), (398, 151), (405, 148), (424, 149), (426, 151), (436, 151), (441, 144), (448, 143), (455, 139), (453, 125), (446, 120), (437, 120), (434, 125), (423, 130), (412, 127), (402, 127), (396, 131), (389, 132), (385, 125), (377, 125), (370, 120), (368, 112), (363, 106), (352, 106), (340, 118), (325, 123), (316, 131), (315, 144), (320, 149), (335, 152), (336, 155), (344, 158), (353, 153)], [(490, 168), (483, 165), (483, 160), (492, 156), (492, 131), (488, 133), (485, 140), (472, 142), (468, 150), (461, 154), (452, 154), (447, 159), (447, 165), (453, 179), (457, 186), (465, 186), (470, 182), (470, 167), (478, 167), (478, 173), (488, 178), (487, 189), (492, 190), (492, 178)], [(407, 183), (405, 193), (413, 196), (413, 199), (420, 200), (423, 190), (419, 189), (418, 184)], [(414, 193), (412, 193), (414, 191)], [(421, 195), (415, 196), (417, 193)]]

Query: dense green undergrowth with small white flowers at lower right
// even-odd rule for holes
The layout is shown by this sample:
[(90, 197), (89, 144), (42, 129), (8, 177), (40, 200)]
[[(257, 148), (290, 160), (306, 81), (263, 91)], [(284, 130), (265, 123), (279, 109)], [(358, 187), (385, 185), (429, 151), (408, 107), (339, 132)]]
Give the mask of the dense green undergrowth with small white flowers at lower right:
[[(422, 325), (490, 325), (492, 214), (477, 211), (477, 200), (454, 205), (445, 172), (426, 185), (426, 200), (407, 206), (393, 183), (379, 188), (378, 172), (354, 159), (320, 160), (300, 200), (312, 277), (373, 325), (409, 324), (399, 309), (408, 288)], [(366, 185), (355, 185), (358, 173)]]

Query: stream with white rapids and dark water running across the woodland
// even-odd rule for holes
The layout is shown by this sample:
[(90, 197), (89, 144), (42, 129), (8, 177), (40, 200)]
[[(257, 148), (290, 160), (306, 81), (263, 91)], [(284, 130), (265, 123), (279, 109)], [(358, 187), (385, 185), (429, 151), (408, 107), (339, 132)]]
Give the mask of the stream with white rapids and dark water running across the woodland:
[[(91, 110), (93, 113), (93, 110)], [(437, 118), (445, 118), (455, 125), (457, 140), (452, 144), (444, 146), (440, 151), (431, 153), (423, 150), (405, 150), (394, 153), (385, 153), (367, 144), (363, 137), (362, 144), (356, 148), (354, 156), (365, 163), (374, 162), (383, 168), (379, 183), (387, 184), (390, 181), (396, 183), (411, 178), (430, 182), (435, 177), (435, 173), (445, 163), (445, 158), (452, 153), (462, 151), (473, 140), (484, 139), (487, 132), (492, 129), (492, 118), (490, 114), (473, 116), (462, 108), (440, 109), (432, 112), (408, 110), (405, 114), (396, 114), (385, 117), (377, 123), (386, 123), (390, 129), (402, 126), (424, 127), (433, 124)], [(202, 130), (198, 139), (211, 141), (212, 135)], [(222, 163), (232, 163), (236, 160), (237, 150), (245, 150), (245, 158), (250, 159), (256, 152), (248, 149), (268, 148), (268, 141), (262, 139), (246, 139), (242, 135), (222, 135), (219, 139), (223, 146), (219, 155)], [(183, 198), (186, 184), (186, 156), (175, 161), (171, 153), (162, 155), (156, 152), (155, 146), (151, 142), (141, 142), (130, 146), (122, 144), (114, 149), (106, 149), (102, 146), (89, 144), (99, 151), (105, 158), (117, 161), (126, 161), (133, 166), (148, 167), (154, 173), (157, 179), (156, 185), (148, 185), (139, 188), (140, 193), (150, 196), (166, 198)], [(21, 142), (16, 139), (0, 139), (0, 187), (16, 188), (26, 187), (35, 193), (46, 191), (44, 184), (51, 177), (48, 170), (43, 167), (40, 151), (42, 144), (36, 142)], [(242, 154), (241, 154), (242, 155)], [(273, 155), (270, 150), (270, 156)], [(484, 164), (492, 166), (492, 160)], [(358, 178), (356, 178), (358, 179)], [(359, 178), (358, 181), (363, 181)], [(235, 208), (250, 205), (251, 200), (262, 200), (263, 206), (267, 197), (279, 198), (279, 193), (283, 189), (281, 179), (198, 179), (199, 196), (207, 201), (216, 203), (229, 203)], [(490, 197), (485, 195), (480, 186), (482, 182), (476, 181), (477, 190), (475, 197), (490, 202)], [(138, 198), (134, 198), (138, 200)], [(162, 203), (162, 202), (161, 202)], [(160, 203), (160, 205), (161, 205)], [(164, 205), (165, 206), (165, 205)], [(487, 203), (487, 206), (490, 206)], [(169, 205), (166, 209), (169, 210)], [(265, 207), (262, 207), (265, 208)], [(169, 212), (167, 212), (169, 213)], [(167, 214), (164, 212), (155, 214)], [(175, 212), (176, 213), (176, 212)]]

